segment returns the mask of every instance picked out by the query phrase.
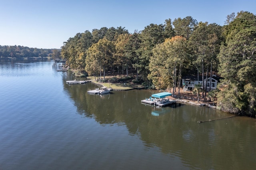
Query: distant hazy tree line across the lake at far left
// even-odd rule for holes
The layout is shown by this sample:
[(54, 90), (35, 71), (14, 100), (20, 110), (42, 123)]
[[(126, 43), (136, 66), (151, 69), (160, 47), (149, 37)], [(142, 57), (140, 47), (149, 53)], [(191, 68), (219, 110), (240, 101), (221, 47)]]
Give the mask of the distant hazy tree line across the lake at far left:
[(60, 58), (60, 49), (38, 49), (20, 45), (0, 45), (1, 58), (53, 57)]

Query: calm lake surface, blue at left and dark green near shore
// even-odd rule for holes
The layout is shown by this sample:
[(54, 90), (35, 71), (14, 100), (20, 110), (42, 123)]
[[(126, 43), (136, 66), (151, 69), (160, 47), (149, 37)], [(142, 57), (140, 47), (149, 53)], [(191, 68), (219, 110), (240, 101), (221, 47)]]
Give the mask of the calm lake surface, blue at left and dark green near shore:
[(0, 61), (0, 170), (254, 169), (256, 120), (140, 103), (156, 91), (97, 86), (54, 61)]

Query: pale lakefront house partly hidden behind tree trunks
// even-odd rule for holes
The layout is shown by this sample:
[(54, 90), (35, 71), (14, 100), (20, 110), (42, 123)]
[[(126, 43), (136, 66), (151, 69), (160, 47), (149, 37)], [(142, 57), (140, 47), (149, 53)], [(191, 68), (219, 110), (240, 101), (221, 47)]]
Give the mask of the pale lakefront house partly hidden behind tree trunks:
[[(204, 79), (204, 84), (207, 85), (207, 91), (212, 91), (217, 88), (217, 84), (220, 81), (220, 77), (217, 75), (212, 75), (212, 77), (208, 77), (207, 80)], [(197, 76), (186, 76), (182, 79), (183, 91), (192, 91), (196, 84), (202, 85), (202, 76), (199, 76), (199, 80)], [(202, 88), (202, 87), (201, 87)]]

